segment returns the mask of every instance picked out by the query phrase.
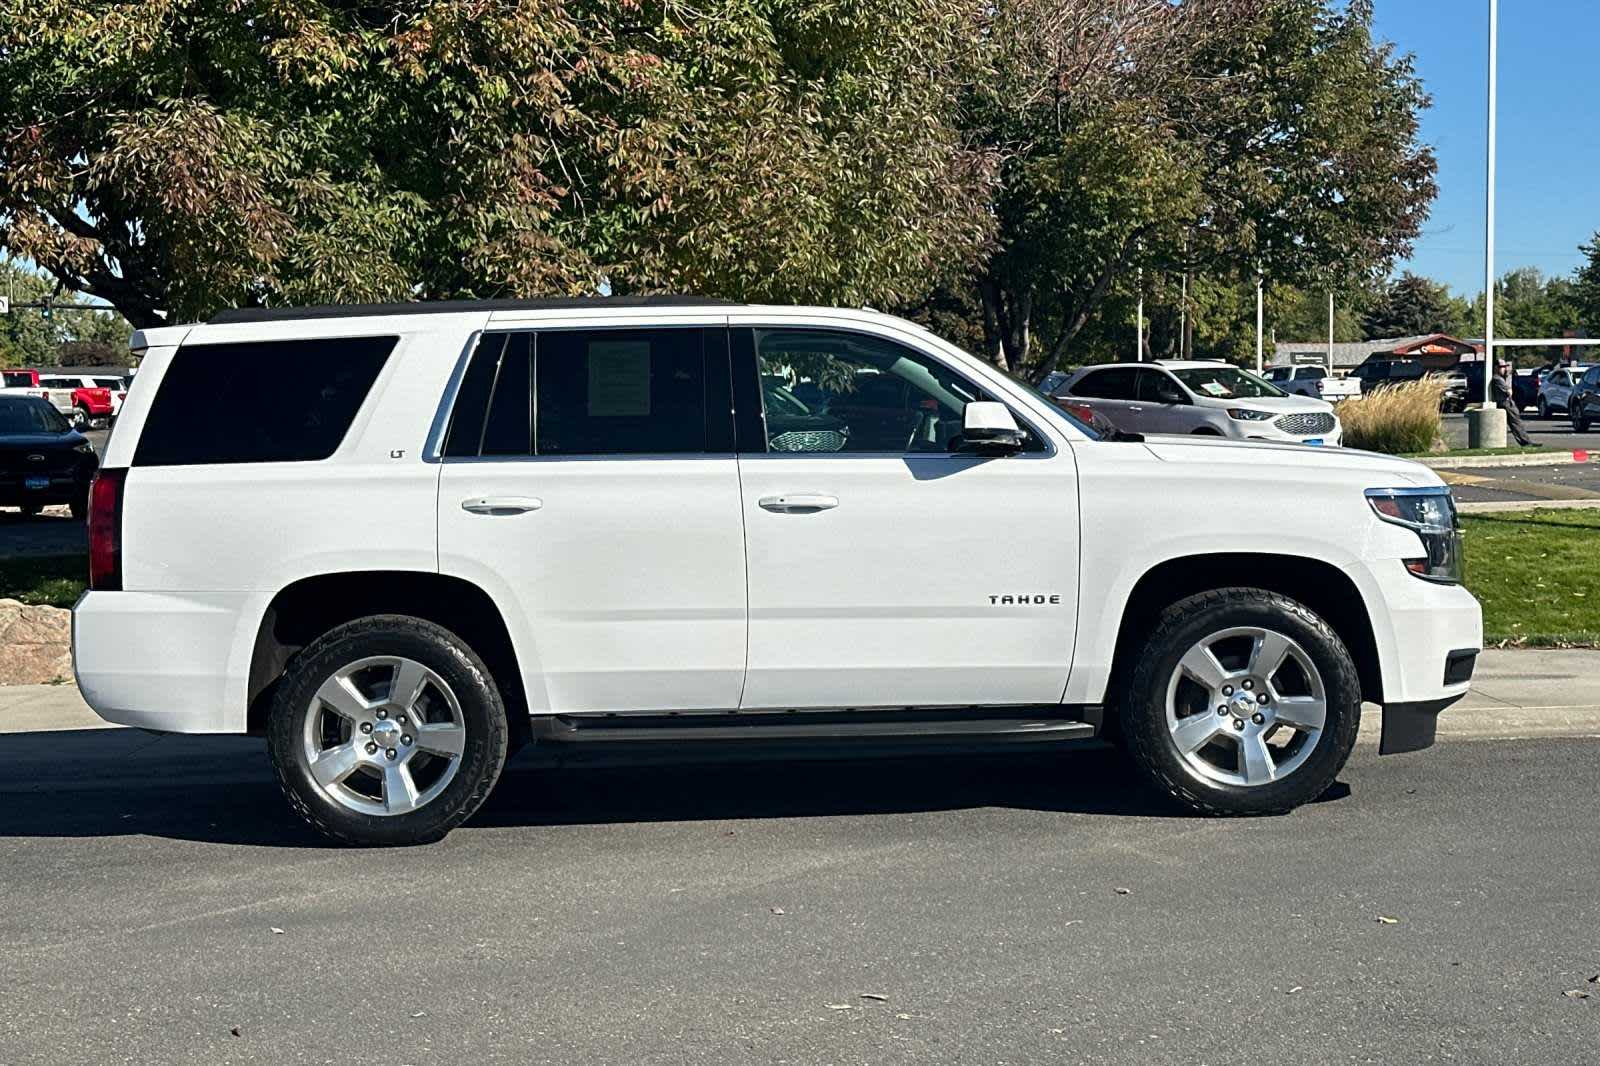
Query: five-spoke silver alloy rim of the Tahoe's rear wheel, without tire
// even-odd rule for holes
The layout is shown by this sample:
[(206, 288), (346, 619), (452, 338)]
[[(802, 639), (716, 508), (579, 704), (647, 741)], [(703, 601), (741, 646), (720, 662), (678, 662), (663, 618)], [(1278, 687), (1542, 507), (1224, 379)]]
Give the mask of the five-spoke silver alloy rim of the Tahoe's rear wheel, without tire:
[(306, 767), (336, 804), (363, 815), (426, 807), (461, 768), (467, 727), (445, 679), (416, 659), (357, 659), (306, 712)]

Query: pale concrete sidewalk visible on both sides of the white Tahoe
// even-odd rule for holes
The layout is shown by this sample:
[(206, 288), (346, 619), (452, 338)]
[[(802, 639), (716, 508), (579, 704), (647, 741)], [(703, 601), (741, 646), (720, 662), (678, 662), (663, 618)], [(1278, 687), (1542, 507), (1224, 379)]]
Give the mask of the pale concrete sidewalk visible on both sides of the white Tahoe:
[[(1378, 743), (1368, 707), (1362, 741)], [(0, 687), (0, 733), (107, 727), (75, 685)], [(1466, 699), (1438, 719), (1442, 739), (1600, 736), (1600, 651), (1485, 651)]]

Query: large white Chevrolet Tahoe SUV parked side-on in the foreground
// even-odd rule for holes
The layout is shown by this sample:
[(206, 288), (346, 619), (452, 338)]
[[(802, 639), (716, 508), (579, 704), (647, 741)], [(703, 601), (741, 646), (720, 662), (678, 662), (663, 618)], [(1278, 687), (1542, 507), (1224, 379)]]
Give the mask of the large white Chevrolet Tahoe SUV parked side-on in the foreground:
[(1283, 812), (1363, 698), (1382, 751), (1430, 744), (1482, 643), (1427, 467), (1101, 439), (880, 314), (232, 311), (133, 343), (83, 696), (264, 735), (342, 840), (442, 837), (528, 741), (1102, 736), (1194, 808)]

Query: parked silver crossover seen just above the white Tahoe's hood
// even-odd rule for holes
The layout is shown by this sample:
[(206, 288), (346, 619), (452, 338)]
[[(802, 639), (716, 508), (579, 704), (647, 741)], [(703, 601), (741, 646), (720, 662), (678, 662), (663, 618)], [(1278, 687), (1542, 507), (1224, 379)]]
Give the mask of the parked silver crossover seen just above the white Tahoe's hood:
[(1070, 397), (1126, 432), (1330, 447), (1344, 439), (1331, 403), (1288, 395), (1270, 381), (1222, 362), (1085, 367), (1054, 395)]

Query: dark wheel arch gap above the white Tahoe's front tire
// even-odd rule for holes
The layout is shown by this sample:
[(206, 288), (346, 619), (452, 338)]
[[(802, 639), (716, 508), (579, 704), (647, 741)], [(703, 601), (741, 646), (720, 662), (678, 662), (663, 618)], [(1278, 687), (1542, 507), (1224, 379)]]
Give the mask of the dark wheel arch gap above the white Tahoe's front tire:
[(1107, 691), (1115, 693), (1131, 674), (1141, 639), (1154, 629), (1163, 610), (1197, 592), (1227, 587), (1280, 592), (1320, 615), (1355, 659), (1362, 698), (1382, 703), (1378, 639), (1360, 587), (1330, 562), (1270, 552), (1181, 555), (1146, 570), (1123, 603)]

